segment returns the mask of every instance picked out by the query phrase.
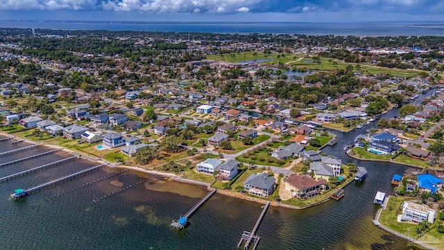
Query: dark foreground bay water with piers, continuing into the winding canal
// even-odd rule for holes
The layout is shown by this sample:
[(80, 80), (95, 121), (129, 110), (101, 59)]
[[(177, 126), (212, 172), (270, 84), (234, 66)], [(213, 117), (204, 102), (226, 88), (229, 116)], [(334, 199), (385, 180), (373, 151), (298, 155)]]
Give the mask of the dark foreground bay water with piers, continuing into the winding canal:
[[(422, 94), (420, 99), (424, 97)], [(382, 117), (396, 115), (398, 110), (391, 110)], [(402, 174), (407, 167), (359, 161), (343, 151), (356, 135), (374, 126), (376, 122), (361, 130), (336, 133), (338, 144), (324, 149), (343, 163), (366, 167), (366, 180), (348, 185), (339, 201), (306, 210), (271, 207), (257, 231), (261, 237), (257, 249), (418, 249), (372, 223), (376, 192), (391, 194), (393, 174)], [(10, 144), (0, 142), (0, 152), (10, 150)], [(49, 150), (37, 147), (32, 152)], [(17, 154), (25, 156), (24, 152)], [(68, 156), (58, 151), (0, 167), (0, 177)], [(15, 159), (17, 155), (0, 158), (3, 163)], [(241, 233), (253, 228), (262, 210), (258, 203), (214, 194), (191, 217), (189, 228), (176, 231), (169, 226), (171, 220), (194, 206), (207, 193), (206, 188), (111, 167), (20, 201), (10, 199), (17, 188), (32, 188), (98, 164), (71, 160), (0, 183), (0, 249), (235, 249)]]

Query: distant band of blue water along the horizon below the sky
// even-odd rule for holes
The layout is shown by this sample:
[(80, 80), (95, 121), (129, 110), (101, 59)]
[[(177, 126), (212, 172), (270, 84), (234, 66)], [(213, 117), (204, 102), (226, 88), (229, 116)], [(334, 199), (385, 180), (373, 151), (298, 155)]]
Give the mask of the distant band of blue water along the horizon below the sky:
[(0, 21), (4, 28), (51, 28), (65, 30), (107, 31), (174, 31), (210, 33), (273, 33), (308, 35), (444, 35), (434, 28), (407, 27), (413, 24), (438, 24), (436, 22), (355, 22), (355, 23), (130, 23), (130, 22), (35, 22)]

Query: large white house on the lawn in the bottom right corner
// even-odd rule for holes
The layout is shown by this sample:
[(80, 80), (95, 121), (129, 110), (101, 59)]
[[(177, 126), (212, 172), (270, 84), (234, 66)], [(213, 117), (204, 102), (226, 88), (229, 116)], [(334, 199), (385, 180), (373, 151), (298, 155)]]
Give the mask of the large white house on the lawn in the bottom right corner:
[(404, 201), (402, 214), (398, 215), (398, 222), (420, 223), (427, 221), (432, 224), (435, 222), (435, 216), (436, 210), (430, 209), (427, 205)]

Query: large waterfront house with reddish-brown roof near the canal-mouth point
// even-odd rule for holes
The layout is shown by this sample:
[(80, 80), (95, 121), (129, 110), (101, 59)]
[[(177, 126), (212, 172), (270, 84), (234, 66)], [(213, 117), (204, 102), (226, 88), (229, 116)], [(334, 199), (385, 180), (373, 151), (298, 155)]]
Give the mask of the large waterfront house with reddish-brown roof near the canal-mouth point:
[(284, 179), (285, 190), (291, 192), (291, 197), (307, 199), (314, 197), (325, 191), (327, 181), (320, 179), (318, 181), (305, 175), (291, 174)]

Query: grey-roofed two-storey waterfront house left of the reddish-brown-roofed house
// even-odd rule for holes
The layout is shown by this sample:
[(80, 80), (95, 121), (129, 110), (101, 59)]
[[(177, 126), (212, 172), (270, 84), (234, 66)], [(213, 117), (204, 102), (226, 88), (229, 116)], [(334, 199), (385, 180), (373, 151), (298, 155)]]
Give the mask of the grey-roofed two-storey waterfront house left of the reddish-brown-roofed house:
[(244, 182), (244, 188), (248, 194), (259, 197), (268, 197), (276, 188), (276, 179), (266, 173), (251, 174)]

